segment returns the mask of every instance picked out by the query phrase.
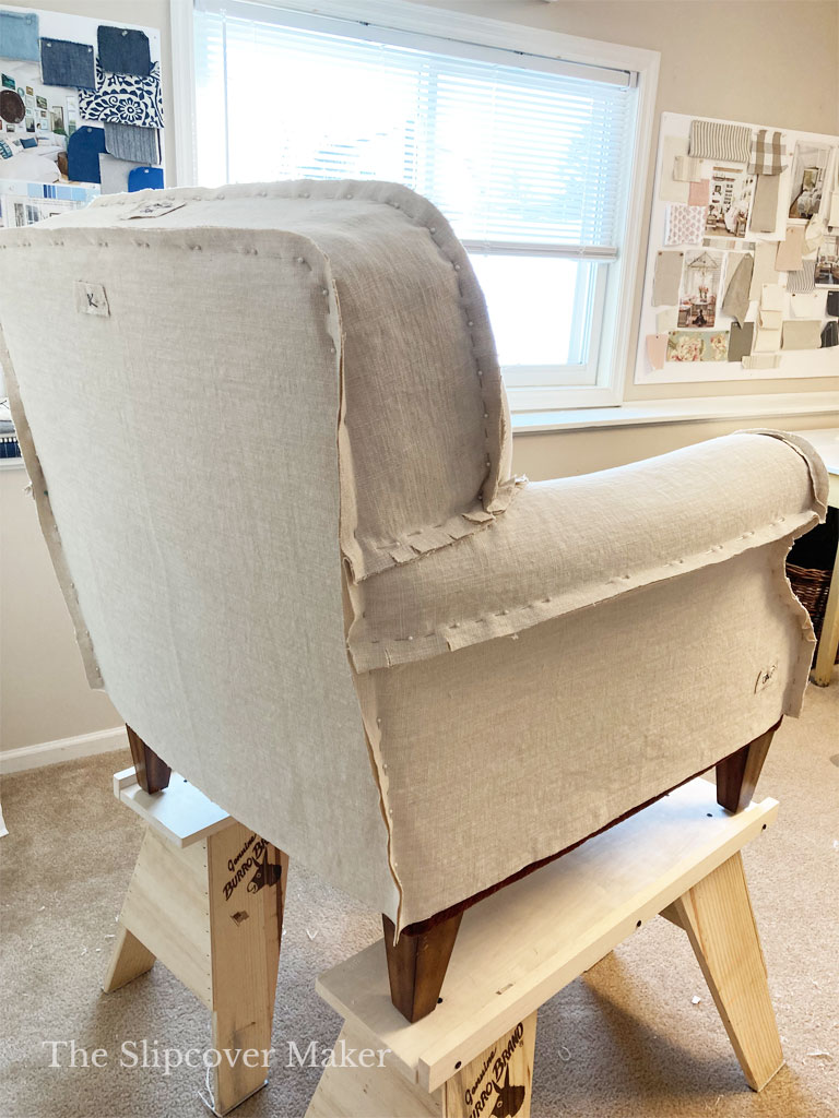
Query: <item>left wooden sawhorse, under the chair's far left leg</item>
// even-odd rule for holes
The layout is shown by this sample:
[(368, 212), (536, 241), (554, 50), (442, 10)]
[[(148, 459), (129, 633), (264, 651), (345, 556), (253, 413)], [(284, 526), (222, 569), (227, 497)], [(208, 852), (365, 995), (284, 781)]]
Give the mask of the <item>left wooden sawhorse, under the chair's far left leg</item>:
[(125, 769), (114, 795), (148, 828), (103, 989), (159, 958), (192, 991), (213, 1014), (211, 1049), (238, 1053), (209, 1069), (208, 1102), (225, 1115), (266, 1082), (289, 860), (177, 773), (149, 795)]

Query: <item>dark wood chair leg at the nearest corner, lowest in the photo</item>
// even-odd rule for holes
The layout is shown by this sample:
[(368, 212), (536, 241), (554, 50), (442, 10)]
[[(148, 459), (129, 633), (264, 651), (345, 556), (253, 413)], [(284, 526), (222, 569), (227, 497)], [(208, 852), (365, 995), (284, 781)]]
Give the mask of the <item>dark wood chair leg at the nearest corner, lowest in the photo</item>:
[(403, 931), (394, 945), (393, 921), (381, 917), (390, 1001), (412, 1023), (426, 1017), (437, 1004), (462, 918), (463, 912), (458, 912), (415, 936)]

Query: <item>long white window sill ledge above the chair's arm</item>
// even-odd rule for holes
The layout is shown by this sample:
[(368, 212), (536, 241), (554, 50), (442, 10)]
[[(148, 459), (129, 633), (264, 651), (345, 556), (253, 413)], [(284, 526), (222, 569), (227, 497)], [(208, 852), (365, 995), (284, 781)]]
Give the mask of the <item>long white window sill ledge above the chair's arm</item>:
[(513, 435), (602, 427), (647, 427), (660, 423), (713, 423), (718, 419), (764, 420), (775, 416), (839, 416), (839, 392), (798, 392), (764, 396), (697, 396), (684, 399), (639, 400), (618, 407), (565, 408), (559, 411), (516, 411)]

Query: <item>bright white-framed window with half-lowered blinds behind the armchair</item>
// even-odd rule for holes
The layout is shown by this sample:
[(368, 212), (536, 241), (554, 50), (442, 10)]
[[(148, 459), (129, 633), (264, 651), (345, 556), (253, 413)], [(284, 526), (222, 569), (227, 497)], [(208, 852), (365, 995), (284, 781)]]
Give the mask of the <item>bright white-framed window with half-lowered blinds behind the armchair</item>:
[(412, 187), (470, 252), (513, 408), (614, 402), (637, 72), (295, 7), (197, 0), (198, 182)]

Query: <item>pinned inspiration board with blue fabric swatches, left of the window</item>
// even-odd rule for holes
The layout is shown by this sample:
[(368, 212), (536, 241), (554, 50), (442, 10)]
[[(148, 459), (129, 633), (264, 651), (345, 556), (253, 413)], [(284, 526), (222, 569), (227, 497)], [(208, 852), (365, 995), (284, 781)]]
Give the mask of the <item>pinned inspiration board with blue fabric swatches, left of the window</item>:
[(151, 28), (0, 4), (0, 226), (162, 187), (160, 66)]

